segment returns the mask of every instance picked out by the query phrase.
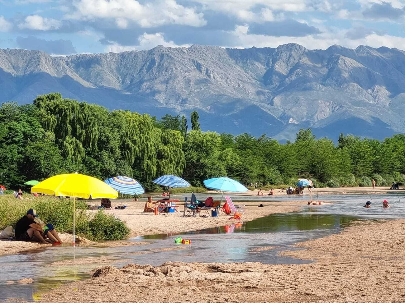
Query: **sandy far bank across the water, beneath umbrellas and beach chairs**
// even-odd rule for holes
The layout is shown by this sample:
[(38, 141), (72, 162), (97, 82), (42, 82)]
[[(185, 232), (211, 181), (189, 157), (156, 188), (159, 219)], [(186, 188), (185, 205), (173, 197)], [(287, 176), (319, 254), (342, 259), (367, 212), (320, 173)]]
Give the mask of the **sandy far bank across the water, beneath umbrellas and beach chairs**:
[[(246, 193), (234, 194), (232, 196), (257, 196), (257, 191), (248, 191)], [(266, 215), (271, 215), (273, 213), (286, 213), (296, 211), (300, 206), (306, 205), (307, 201), (312, 198), (316, 200), (316, 189), (313, 189), (313, 194), (309, 195), (308, 189), (305, 189), (305, 198), (302, 195), (291, 195), (290, 201), (271, 201), (272, 199), (277, 199), (280, 196), (287, 196), (286, 192), (279, 192), (278, 189), (275, 190), (275, 197), (267, 196), (269, 191), (264, 191), (264, 196), (260, 197), (263, 202), (237, 202), (235, 204), (245, 204), (245, 213), (241, 221), (252, 221), (254, 219), (264, 217)], [(217, 194), (218, 191), (209, 191), (209, 193)], [(209, 194), (208, 193), (208, 194)], [(389, 187), (337, 187), (337, 188), (319, 188), (318, 195), (320, 200), (323, 201), (322, 195), (343, 195), (343, 194), (359, 194), (359, 195), (371, 195), (371, 194), (401, 194), (405, 193), (403, 189), (390, 190)], [(145, 194), (144, 196), (147, 196)], [(174, 195), (175, 196), (175, 195)], [(153, 196), (153, 199), (159, 199), (160, 196)], [(305, 199), (305, 200), (304, 200)], [(144, 199), (143, 199), (144, 200)], [(269, 201), (270, 200), (270, 201)], [(96, 203), (96, 202), (94, 202)], [(143, 213), (143, 207), (145, 201), (126, 201), (127, 208), (124, 210), (105, 210), (107, 213), (114, 214), (119, 219), (126, 222), (128, 227), (131, 229), (131, 237), (143, 236), (150, 234), (176, 234), (185, 231), (193, 231), (197, 229), (204, 229), (209, 227), (222, 226), (235, 221), (229, 219), (229, 216), (220, 215), (219, 217), (211, 217), (210, 212), (201, 212), (200, 215), (207, 215), (208, 217), (184, 217), (183, 218), (183, 203), (180, 202), (179, 214), (171, 213), (169, 215), (157, 215), (152, 213)], [(264, 204), (263, 208), (258, 208), (258, 204)], [(119, 206), (121, 202), (112, 201), (113, 207)], [(96, 212), (96, 210), (89, 210), (90, 212)], [(63, 234), (62, 241), (71, 243), (73, 236), (71, 234)], [(77, 238), (78, 242), (81, 244), (90, 245), (95, 244), (84, 238)], [(104, 246), (109, 245), (119, 245), (117, 242), (105, 242)], [(14, 254), (18, 252), (24, 252), (32, 250), (35, 248), (44, 247), (46, 245), (39, 244), (35, 242), (20, 242), (20, 241), (0, 241), (0, 255), (4, 254)]]

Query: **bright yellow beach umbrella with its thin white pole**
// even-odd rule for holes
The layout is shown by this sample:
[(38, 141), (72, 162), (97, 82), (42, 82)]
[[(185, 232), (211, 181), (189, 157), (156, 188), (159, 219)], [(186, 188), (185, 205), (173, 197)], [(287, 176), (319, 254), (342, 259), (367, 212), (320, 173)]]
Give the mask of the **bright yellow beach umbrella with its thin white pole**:
[(32, 193), (73, 197), (73, 245), (75, 244), (75, 198), (118, 197), (118, 191), (94, 177), (75, 174), (56, 175), (31, 187)]

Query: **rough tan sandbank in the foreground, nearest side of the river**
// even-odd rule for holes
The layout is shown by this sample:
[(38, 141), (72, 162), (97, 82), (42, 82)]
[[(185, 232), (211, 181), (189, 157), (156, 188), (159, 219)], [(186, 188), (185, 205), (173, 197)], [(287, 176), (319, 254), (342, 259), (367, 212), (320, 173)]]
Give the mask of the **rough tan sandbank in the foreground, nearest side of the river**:
[(360, 223), (283, 252), (316, 260), (310, 264), (106, 266), (41, 302), (404, 302), (404, 227), (405, 220)]

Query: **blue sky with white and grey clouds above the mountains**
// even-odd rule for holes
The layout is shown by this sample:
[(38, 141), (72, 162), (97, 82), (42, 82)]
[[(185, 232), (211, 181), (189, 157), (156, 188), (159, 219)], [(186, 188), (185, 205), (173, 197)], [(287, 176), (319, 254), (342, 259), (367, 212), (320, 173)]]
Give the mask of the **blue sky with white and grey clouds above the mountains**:
[(405, 0), (0, 0), (0, 48), (51, 55), (296, 42), (405, 50)]

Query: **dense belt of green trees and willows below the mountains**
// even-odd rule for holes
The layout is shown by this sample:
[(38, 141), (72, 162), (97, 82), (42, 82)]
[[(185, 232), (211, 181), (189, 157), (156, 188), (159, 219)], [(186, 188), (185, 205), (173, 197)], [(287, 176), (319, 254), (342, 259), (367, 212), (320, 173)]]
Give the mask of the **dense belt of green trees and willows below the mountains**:
[[(405, 184), (405, 135), (384, 141), (341, 134), (337, 143), (302, 129), (281, 144), (262, 135), (202, 132), (198, 113), (185, 116), (115, 110), (58, 93), (33, 104), (0, 107), (0, 182), (17, 189), (28, 180), (78, 171), (99, 179), (127, 175), (147, 191), (160, 175), (182, 176), (193, 186), (228, 176), (250, 185), (293, 185), (312, 177), (318, 186)], [(27, 188), (28, 189), (28, 188)]]

